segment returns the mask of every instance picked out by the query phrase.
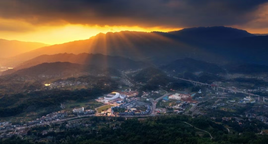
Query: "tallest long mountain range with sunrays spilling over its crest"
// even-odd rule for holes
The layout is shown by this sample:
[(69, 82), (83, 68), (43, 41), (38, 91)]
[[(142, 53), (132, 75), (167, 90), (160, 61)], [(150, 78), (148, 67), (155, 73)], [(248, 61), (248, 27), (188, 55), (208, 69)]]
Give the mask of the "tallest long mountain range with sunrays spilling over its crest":
[(186, 28), (173, 32), (121, 31), (98, 34), (87, 40), (52, 45), (0, 60), (13, 67), (41, 55), (92, 53), (121, 56), (155, 65), (192, 58), (216, 64), (268, 65), (268, 36), (255, 36), (229, 27)]

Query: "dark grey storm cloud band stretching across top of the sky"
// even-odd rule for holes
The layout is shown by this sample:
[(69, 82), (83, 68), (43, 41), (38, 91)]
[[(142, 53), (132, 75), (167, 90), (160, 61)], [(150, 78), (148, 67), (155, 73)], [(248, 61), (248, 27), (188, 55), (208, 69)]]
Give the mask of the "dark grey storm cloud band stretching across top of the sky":
[[(244, 25), (268, 0), (1, 0), (0, 17), (32, 24)], [(268, 26), (267, 26), (268, 27)]]

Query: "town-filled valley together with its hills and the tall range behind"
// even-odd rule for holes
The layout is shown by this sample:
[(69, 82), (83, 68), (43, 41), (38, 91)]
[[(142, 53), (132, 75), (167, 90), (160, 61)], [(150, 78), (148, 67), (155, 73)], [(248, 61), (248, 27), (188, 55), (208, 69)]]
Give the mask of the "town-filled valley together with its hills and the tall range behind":
[[(113, 136), (115, 141), (132, 141), (137, 135), (150, 141), (135, 141), (152, 143), (150, 137), (157, 135), (152, 133), (165, 131), (186, 136), (176, 140), (184, 143), (190, 138), (196, 143), (232, 143), (249, 137), (263, 142), (268, 67), (257, 58), (245, 60), (255, 53), (247, 46), (241, 56), (230, 55), (241, 51), (232, 46), (244, 39), (266, 37), (226, 27), (122, 31), (5, 58), (1, 64), (14, 67), (0, 68), (1, 138), (87, 143)], [(254, 57), (262, 59), (266, 49), (255, 50)]]

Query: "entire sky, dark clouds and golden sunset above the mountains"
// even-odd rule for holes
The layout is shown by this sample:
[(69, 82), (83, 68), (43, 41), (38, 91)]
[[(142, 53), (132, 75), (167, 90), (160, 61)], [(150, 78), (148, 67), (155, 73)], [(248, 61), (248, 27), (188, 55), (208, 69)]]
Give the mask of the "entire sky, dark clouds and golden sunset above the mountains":
[(0, 38), (60, 44), (100, 32), (226, 26), (268, 33), (268, 0), (1, 0)]

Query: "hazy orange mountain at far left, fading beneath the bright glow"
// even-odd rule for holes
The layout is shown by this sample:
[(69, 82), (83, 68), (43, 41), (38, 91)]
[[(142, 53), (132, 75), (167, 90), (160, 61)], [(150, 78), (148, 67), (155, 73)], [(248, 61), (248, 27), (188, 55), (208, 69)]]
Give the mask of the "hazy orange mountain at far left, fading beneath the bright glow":
[(0, 39), (0, 58), (13, 57), (44, 46), (49, 45), (38, 42), (21, 42), (18, 40)]

